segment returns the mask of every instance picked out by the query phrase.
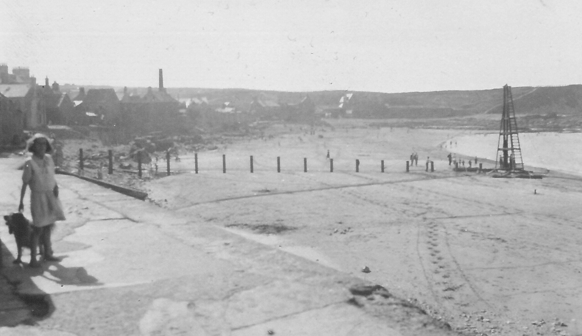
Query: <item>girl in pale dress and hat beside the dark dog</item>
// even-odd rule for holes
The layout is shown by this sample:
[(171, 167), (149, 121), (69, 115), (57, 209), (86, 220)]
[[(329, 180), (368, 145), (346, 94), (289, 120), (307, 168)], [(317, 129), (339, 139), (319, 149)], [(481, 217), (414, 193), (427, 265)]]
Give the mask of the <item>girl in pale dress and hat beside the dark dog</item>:
[(22, 189), (18, 211), (24, 211), (24, 194), (30, 186), (30, 212), (33, 217), (33, 233), (30, 247), (30, 266), (38, 267), (36, 259), (37, 246), (44, 245), (44, 261), (60, 261), (52, 255), (51, 230), (56, 221), (64, 221), (65, 214), (59, 200), (59, 187), (55, 180), (55, 164), (52, 157), (52, 146), (47, 136), (40, 133), (30, 138), (28, 150), (33, 155), (24, 162), (22, 172)]

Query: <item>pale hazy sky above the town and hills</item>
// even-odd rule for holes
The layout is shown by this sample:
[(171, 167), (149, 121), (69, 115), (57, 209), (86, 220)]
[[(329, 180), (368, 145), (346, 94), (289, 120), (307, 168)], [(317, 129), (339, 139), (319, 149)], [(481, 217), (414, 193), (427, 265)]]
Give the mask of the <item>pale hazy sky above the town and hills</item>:
[(0, 0), (40, 82), (379, 92), (582, 83), (582, 1)]

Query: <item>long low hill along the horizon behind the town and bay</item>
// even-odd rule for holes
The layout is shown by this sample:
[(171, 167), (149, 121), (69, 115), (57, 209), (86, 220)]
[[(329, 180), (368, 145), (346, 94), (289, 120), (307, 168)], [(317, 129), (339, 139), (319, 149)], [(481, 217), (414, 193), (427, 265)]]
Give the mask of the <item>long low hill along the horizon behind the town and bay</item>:
[[(80, 86), (80, 85), (79, 85)], [(86, 86), (88, 88), (88, 86)], [(74, 88), (68, 88), (74, 91)], [(123, 88), (115, 88), (118, 93)], [(144, 95), (147, 88), (128, 88), (129, 92)], [(268, 96), (279, 102), (300, 100), (309, 95), (319, 110), (338, 108), (340, 98), (353, 93), (349, 106), (357, 118), (446, 118), (475, 114), (501, 114), (503, 89), (476, 91), (434, 92), (358, 92), (316, 91), (279, 92), (250, 89), (166, 88), (175, 98), (206, 97), (209, 102), (231, 102), (241, 110), (249, 109), (258, 96)], [(582, 115), (582, 85), (523, 86), (512, 88), (517, 114)]]

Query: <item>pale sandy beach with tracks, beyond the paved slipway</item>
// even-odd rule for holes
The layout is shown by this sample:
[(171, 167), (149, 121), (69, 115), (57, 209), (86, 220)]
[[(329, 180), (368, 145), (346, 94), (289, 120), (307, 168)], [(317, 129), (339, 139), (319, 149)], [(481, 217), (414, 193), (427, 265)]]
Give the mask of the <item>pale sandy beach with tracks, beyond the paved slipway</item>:
[[(145, 188), (152, 201), (193, 221), (414, 299), (459, 331), (582, 332), (581, 179), (552, 172), (542, 180), (455, 173), (441, 144), (459, 131), (365, 124), (335, 120), (316, 135), (287, 125), (286, 135), (198, 153), (199, 174), (193, 154), (183, 155), (172, 162), (180, 174)], [(413, 151), (418, 166), (406, 173)], [(425, 172), (427, 157), (435, 172)], [(361, 272), (365, 266), (370, 273)]]

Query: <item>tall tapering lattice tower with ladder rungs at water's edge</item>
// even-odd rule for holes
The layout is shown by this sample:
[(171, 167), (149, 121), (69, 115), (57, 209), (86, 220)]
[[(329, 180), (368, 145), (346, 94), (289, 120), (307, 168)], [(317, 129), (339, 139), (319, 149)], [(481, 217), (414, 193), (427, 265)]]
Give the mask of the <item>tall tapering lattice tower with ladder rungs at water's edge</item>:
[(503, 171), (523, 171), (523, 158), (513, 109), (513, 97), (511, 86), (503, 86), (503, 113), (501, 115), (501, 127), (499, 128), (499, 140), (497, 142), (497, 160), (495, 169)]

